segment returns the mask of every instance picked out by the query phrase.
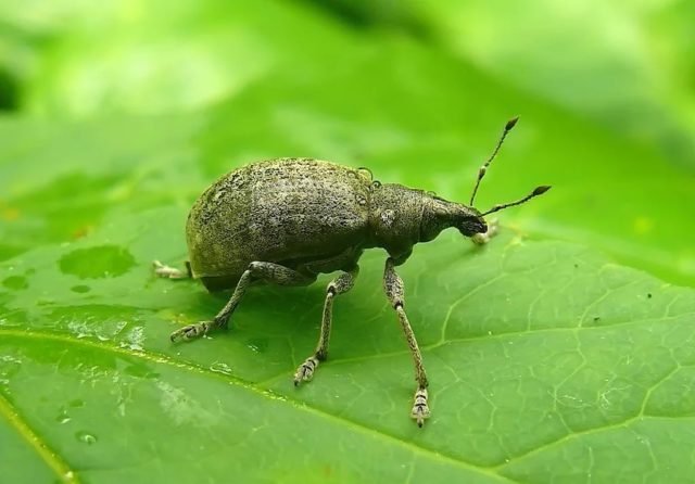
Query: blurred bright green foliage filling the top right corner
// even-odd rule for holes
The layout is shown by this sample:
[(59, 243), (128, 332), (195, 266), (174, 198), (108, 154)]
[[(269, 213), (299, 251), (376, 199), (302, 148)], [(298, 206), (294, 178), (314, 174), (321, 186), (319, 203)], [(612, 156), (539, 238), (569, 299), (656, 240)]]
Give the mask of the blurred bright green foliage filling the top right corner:
[(399, 29), (695, 169), (695, 3), (328, 0)]

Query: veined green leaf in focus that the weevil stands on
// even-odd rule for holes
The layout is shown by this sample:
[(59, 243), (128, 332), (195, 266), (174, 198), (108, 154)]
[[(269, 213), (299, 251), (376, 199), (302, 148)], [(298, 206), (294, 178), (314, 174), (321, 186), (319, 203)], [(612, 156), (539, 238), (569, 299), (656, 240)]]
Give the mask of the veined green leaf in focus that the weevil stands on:
[[(20, 434), (18, 449), (46, 447), (49, 468), (99, 482), (542, 482), (615, 475), (626, 455), (621, 482), (690, 475), (692, 290), (509, 230), (481, 250), (450, 232), (418, 246), (401, 272), (431, 379), (420, 430), (410, 357), (376, 290), (378, 252), (337, 301), (330, 359), (311, 384), (291, 375), (316, 342), (323, 284), (253, 288), (230, 331), (169, 344), (224, 304), (150, 275), (184, 215), (124, 217), (4, 266), (27, 285), (2, 294), (0, 319), (0, 409), (12, 417), (0, 429)], [(138, 265), (61, 270), (105, 240)]]

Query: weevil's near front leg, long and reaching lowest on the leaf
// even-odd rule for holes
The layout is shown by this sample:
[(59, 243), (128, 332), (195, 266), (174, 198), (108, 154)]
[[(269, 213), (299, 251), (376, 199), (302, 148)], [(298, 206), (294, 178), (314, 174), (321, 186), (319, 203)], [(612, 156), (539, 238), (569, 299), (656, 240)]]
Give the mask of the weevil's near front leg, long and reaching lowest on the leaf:
[(420, 349), (418, 348), (417, 341), (415, 340), (415, 333), (413, 333), (413, 328), (410, 328), (408, 317), (406, 316), (405, 309), (403, 308), (403, 280), (396, 273), (394, 266), (394, 259), (392, 257), (389, 257), (387, 259), (387, 266), (383, 271), (383, 289), (387, 293), (389, 302), (399, 316), (399, 320), (401, 321), (401, 326), (403, 327), (403, 332), (405, 333), (405, 339), (407, 340), (408, 347), (410, 348), (410, 354), (413, 355), (417, 390), (415, 391), (415, 404), (413, 405), (410, 417), (413, 417), (417, 421), (418, 426), (422, 426), (422, 424), (425, 423), (425, 419), (429, 418), (430, 416), (430, 409), (427, 405), (427, 374), (425, 373), (425, 367), (422, 366), (422, 355), (420, 355)]

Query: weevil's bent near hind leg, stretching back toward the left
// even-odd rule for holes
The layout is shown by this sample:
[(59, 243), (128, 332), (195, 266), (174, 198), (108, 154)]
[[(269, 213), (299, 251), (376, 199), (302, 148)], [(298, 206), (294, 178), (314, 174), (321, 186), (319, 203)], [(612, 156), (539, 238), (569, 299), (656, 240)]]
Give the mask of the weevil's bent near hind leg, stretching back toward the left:
[(225, 307), (223, 307), (222, 310), (217, 313), (215, 319), (213, 319), (212, 321), (195, 322), (193, 324), (188, 324), (184, 328), (179, 328), (172, 333), (172, 335), (169, 336), (170, 340), (173, 342), (192, 340), (194, 337), (206, 334), (210, 330), (217, 328), (227, 328), (229, 317), (239, 305), (239, 302), (247, 292), (247, 288), (249, 288), (249, 284), (254, 280), (261, 280), (279, 285), (307, 285), (314, 282), (316, 278), (304, 276), (296, 270), (290, 269), (289, 267), (285, 267), (279, 264), (253, 262), (249, 264), (249, 268), (244, 270), (244, 272), (241, 275), (241, 278), (239, 278), (239, 282), (237, 282), (235, 292), (231, 294), (231, 297), (229, 298), (227, 304), (225, 304)]

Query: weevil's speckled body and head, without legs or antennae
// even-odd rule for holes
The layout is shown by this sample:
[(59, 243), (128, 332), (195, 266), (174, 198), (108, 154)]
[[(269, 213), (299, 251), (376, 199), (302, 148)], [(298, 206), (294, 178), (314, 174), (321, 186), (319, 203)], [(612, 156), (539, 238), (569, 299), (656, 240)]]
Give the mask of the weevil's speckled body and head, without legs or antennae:
[(354, 267), (369, 247), (402, 259), (456, 216), (479, 215), (421, 190), (375, 182), (362, 169), (278, 158), (215, 181), (193, 205), (186, 234), (193, 277), (215, 291), (233, 288), (254, 260), (315, 278)]

